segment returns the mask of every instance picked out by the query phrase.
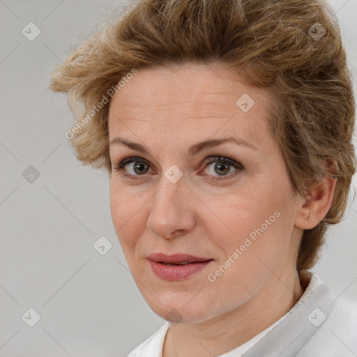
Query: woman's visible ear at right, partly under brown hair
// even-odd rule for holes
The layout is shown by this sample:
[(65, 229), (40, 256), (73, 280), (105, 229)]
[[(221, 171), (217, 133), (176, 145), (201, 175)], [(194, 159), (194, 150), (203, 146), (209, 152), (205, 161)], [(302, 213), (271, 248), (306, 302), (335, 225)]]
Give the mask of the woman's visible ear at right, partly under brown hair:
[[(335, 160), (331, 161), (329, 166), (338, 171), (338, 165)], [(326, 176), (314, 191), (307, 193), (296, 213), (296, 227), (312, 229), (324, 219), (331, 207), (337, 182), (337, 178), (332, 175)]]

